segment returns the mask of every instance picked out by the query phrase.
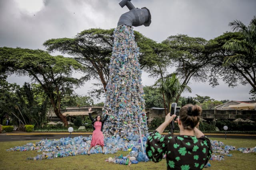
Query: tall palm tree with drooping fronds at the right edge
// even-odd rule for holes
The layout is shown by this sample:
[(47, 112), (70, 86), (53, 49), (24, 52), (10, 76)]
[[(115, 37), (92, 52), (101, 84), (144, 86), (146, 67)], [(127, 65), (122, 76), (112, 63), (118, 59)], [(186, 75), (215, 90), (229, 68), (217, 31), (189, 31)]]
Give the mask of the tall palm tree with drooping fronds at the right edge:
[[(225, 57), (224, 66), (238, 64), (242, 70), (238, 70), (243, 77), (250, 83), (252, 89), (256, 90), (255, 67), (256, 67), (256, 16), (246, 26), (239, 20), (235, 20), (229, 25), (232, 30), (243, 36), (243, 39), (230, 39), (222, 48), (233, 51), (231, 56)], [(246, 76), (248, 75), (248, 77)]]

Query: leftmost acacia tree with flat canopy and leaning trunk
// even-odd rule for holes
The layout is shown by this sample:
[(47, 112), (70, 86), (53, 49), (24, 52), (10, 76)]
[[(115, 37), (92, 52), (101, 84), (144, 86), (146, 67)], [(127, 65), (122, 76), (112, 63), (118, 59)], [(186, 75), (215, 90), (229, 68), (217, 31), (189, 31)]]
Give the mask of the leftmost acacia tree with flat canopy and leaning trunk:
[(48, 96), (51, 106), (64, 123), (68, 125), (66, 117), (60, 112), (61, 99), (64, 94), (72, 94), (73, 88), (82, 81), (72, 78), (73, 70), (82, 70), (80, 63), (63, 56), (51, 56), (42, 50), (21, 48), (0, 48), (0, 65), (9, 72), (28, 75), (34, 82), (41, 85)]

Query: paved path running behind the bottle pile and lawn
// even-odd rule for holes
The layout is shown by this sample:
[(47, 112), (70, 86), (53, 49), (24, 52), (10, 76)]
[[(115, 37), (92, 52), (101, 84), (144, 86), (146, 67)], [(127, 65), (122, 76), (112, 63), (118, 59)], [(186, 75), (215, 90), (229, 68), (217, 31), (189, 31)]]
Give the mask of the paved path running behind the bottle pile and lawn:
[[(167, 133), (164, 133), (167, 134)], [(65, 132), (44, 132), (44, 133), (25, 133), (25, 132), (13, 132), (13, 133), (0, 133), (0, 142), (6, 141), (29, 141), (29, 140), (42, 140), (42, 139), (60, 139), (62, 137), (77, 137), (77, 136), (89, 136), (92, 135), (92, 132), (74, 132), (74, 133), (65, 133)], [(178, 135), (178, 133), (174, 133)], [(207, 137), (214, 138), (225, 138), (225, 134), (219, 133), (206, 133)], [(238, 138), (238, 139), (256, 139), (256, 135), (249, 134), (227, 134), (226, 138)]]

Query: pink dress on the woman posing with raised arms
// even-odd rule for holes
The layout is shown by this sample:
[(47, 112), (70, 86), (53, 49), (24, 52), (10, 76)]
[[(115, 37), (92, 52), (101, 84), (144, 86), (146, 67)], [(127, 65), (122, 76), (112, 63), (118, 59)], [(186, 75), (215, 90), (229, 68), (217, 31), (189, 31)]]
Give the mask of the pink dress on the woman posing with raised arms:
[(102, 123), (100, 121), (94, 122), (95, 130), (92, 132), (92, 141), (91, 147), (95, 147), (96, 145), (104, 146), (104, 136), (101, 129)]

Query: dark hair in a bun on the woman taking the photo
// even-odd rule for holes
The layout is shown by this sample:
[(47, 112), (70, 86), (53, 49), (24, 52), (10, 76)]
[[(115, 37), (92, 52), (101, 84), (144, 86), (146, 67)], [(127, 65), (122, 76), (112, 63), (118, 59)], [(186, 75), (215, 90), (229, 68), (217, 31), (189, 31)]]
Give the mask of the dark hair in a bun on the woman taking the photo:
[(202, 108), (198, 105), (187, 104), (180, 109), (180, 121), (184, 129), (192, 130), (198, 124)]

